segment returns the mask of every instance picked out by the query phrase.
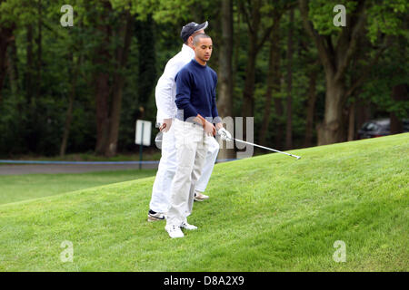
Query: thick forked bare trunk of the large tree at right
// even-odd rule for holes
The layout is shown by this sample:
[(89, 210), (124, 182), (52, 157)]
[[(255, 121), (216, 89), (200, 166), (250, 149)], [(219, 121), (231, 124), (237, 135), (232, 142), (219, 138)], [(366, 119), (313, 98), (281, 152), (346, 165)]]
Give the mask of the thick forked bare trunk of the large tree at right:
[[(308, 0), (299, 0), (299, 7), (304, 27), (314, 40), (325, 73), (325, 112), (324, 121), (317, 126), (318, 145), (340, 142), (345, 139), (342, 113), (348, 96), (345, 75), (356, 53), (358, 40), (364, 32), (365, 1), (359, 1), (354, 12), (347, 15), (348, 24), (340, 30), (336, 37), (337, 43), (333, 43), (331, 36), (321, 35), (314, 29), (309, 20)], [(374, 63), (371, 62), (371, 65)], [(351, 87), (355, 87), (355, 83)]]

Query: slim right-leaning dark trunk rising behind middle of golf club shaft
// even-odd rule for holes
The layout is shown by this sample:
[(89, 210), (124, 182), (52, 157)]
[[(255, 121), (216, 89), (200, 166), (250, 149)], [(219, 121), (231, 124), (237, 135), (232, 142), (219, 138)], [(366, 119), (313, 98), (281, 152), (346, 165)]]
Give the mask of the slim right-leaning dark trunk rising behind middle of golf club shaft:
[[(271, 102), (273, 95), (280, 92), (280, 20), (281, 14), (274, 13), (273, 15), (273, 32), (270, 37), (270, 56), (268, 62), (267, 73), (267, 91), (265, 92), (265, 105), (262, 127), (260, 129), (259, 141), (260, 144), (266, 146), (266, 136), (268, 126), (270, 124)], [(275, 99), (276, 100), (276, 99)], [(281, 101), (280, 101), (281, 102)], [(276, 128), (276, 127), (275, 127)]]

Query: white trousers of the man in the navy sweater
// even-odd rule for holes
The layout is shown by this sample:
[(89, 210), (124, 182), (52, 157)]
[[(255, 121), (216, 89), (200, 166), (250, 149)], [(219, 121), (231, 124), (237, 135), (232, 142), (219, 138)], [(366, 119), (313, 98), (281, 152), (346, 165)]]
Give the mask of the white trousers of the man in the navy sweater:
[(209, 143), (214, 138), (207, 136), (198, 124), (175, 120), (175, 139), (177, 168), (166, 225), (180, 226), (192, 212), (196, 182), (205, 165)]

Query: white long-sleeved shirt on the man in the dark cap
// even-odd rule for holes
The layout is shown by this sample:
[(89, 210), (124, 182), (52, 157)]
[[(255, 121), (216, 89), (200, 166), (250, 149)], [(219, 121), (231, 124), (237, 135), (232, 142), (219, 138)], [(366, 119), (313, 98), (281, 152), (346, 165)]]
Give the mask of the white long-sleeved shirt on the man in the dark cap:
[(182, 50), (166, 63), (165, 71), (159, 78), (155, 89), (156, 122), (162, 123), (164, 119), (175, 118), (177, 112), (175, 76), (194, 57), (194, 50), (183, 44)]

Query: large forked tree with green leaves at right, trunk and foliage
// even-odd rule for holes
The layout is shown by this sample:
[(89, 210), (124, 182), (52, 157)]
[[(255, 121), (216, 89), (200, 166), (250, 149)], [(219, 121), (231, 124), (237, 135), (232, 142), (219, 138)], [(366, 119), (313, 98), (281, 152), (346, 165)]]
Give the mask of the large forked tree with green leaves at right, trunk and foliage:
[[(388, 46), (384, 34), (396, 34), (402, 14), (407, 10), (403, 0), (348, 1), (346, 3), (346, 26), (335, 27), (323, 11), (332, 11), (334, 2), (299, 0), (304, 28), (311, 35), (324, 66), (326, 93), (324, 121), (318, 128), (318, 144), (330, 144), (345, 140), (343, 108), (348, 96), (364, 81), (358, 79), (347, 88), (345, 77), (356, 53), (360, 37), (368, 36), (373, 43), (381, 36), (381, 44), (365, 71), (370, 71), (379, 55)], [(391, 13), (391, 11), (395, 13)], [(371, 18), (368, 19), (368, 15)], [(387, 19), (384, 19), (384, 17)], [(332, 20), (332, 19), (331, 19)], [(397, 27), (396, 27), (397, 26)], [(365, 29), (367, 33), (365, 34)]]

